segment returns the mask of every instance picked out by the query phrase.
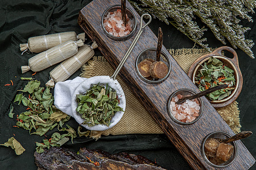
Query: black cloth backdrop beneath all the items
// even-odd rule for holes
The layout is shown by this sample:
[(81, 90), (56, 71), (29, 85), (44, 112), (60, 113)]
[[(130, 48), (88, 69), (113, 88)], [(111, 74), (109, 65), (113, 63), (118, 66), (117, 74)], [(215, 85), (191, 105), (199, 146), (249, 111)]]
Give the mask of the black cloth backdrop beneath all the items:
[[(19, 44), (27, 42), (32, 36), (46, 35), (49, 33), (75, 31), (81, 33), (82, 29), (77, 24), (78, 13), (82, 7), (86, 6), (90, 1), (82, 0), (1, 0), (0, 1), (0, 143), (6, 142), (9, 138), (15, 137), (26, 151), (20, 155), (15, 155), (11, 148), (0, 147), (0, 169), (36, 169), (34, 164), (35, 142), (42, 142), (42, 139), (49, 139), (51, 134), (56, 130), (49, 131), (47, 137), (38, 135), (30, 135), (27, 130), (13, 128), (15, 118), (8, 116), (10, 104), (14, 106), (14, 113), (24, 112), (26, 108), (22, 105), (13, 103), (16, 90), (24, 87), (26, 81), (20, 81), (20, 77), (33, 77), (41, 81), (41, 86), (49, 80), (49, 71), (56, 65), (46, 70), (40, 71), (32, 75), (32, 71), (25, 74), (21, 73), (20, 66), (27, 65), (28, 58), (35, 54), (24, 53), (21, 55)], [(96, 9), (97, 10), (97, 9)], [(103, 12), (103, 11), (102, 11)], [(253, 18), (255, 18), (253, 14)], [(243, 24), (250, 27), (251, 31), (246, 32), (247, 39), (255, 39), (256, 27), (255, 23), (243, 21)], [(164, 45), (171, 49), (192, 48), (194, 43), (182, 33), (177, 31), (171, 25), (166, 25), (158, 19), (153, 19), (150, 24), (152, 31), (157, 33), (158, 27), (162, 27), (164, 34)], [(212, 33), (207, 32), (208, 43), (212, 48), (222, 46)], [(86, 41), (89, 42), (90, 40)], [(230, 44), (228, 44), (230, 46)], [(196, 46), (196, 48), (200, 48)], [(255, 46), (253, 48), (254, 53)], [(237, 50), (240, 62), (240, 68), (243, 74), (243, 89), (238, 97), (239, 108), (241, 111), (242, 130), (253, 131), (255, 128), (255, 59), (251, 59), (241, 50)], [(96, 55), (101, 55), (96, 49)], [(81, 73), (78, 70), (69, 79), (73, 79)], [(13, 86), (5, 86), (11, 83)], [(77, 129), (77, 123), (71, 119), (68, 125)], [(85, 129), (84, 129), (85, 130)], [(242, 142), (255, 157), (256, 143), (255, 134), (250, 138), (243, 139)], [(179, 154), (172, 143), (164, 134), (134, 134), (134, 135), (109, 135), (102, 137), (98, 141), (88, 138), (77, 137), (72, 144), (67, 142), (64, 147), (70, 148), (72, 151), (78, 151), (80, 147), (88, 147), (90, 149), (101, 149), (112, 154), (117, 152), (128, 152), (130, 154), (140, 154), (146, 156), (162, 165), (166, 169), (191, 169), (185, 159)], [(256, 169), (254, 165), (253, 168)]]

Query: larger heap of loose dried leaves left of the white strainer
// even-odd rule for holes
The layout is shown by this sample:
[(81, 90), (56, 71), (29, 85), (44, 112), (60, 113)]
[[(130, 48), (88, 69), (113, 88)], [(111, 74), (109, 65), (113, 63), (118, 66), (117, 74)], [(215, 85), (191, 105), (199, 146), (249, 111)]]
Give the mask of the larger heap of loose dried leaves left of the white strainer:
[(27, 107), (27, 111), (20, 113), (16, 126), (30, 131), (30, 134), (40, 136), (52, 130), (59, 124), (68, 121), (70, 116), (59, 111), (53, 104), (54, 98), (50, 87), (40, 87), (40, 81), (30, 80), (23, 90), (22, 94), (17, 94), (14, 102), (22, 103)]

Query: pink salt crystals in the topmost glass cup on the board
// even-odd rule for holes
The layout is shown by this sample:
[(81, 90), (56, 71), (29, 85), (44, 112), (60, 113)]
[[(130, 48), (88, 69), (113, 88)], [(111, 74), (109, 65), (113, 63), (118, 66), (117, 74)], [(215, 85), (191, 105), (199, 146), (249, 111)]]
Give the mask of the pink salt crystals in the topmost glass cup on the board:
[(104, 18), (103, 26), (110, 35), (115, 37), (123, 37), (129, 35), (133, 24), (126, 14), (127, 24), (123, 24), (121, 10), (109, 12)]

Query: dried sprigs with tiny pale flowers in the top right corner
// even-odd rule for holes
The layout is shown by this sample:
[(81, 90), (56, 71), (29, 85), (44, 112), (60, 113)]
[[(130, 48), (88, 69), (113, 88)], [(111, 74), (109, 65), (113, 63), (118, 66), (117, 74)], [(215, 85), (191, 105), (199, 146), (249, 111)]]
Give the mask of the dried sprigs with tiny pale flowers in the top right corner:
[(207, 38), (203, 37), (207, 28), (200, 28), (196, 22), (196, 18), (200, 18), (222, 44), (226, 44), (228, 40), (233, 48), (240, 48), (254, 58), (251, 51), (254, 42), (246, 40), (244, 35), (250, 28), (243, 27), (240, 19), (253, 22), (249, 12), (254, 13), (255, 0), (129, 0), (129, 2), (139, 13), (147, 12), (154, 18), (174, 25), (189, 39), (209, 49), (208, 44), (205, 43)]

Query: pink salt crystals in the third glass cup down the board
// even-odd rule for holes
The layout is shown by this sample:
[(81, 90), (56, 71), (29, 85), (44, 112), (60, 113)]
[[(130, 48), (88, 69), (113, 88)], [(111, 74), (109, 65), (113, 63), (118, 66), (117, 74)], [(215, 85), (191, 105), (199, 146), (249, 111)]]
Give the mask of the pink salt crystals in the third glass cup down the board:
[(186, 100), (183, 104), (176, 104), (182, 95), (172, 97), (170, 108), (172, 115), (181, 122), (192, 122), (199, 116), (200, 105), (197, 99)]

